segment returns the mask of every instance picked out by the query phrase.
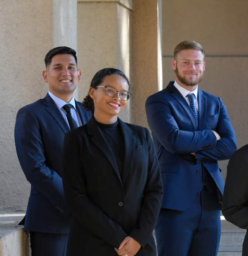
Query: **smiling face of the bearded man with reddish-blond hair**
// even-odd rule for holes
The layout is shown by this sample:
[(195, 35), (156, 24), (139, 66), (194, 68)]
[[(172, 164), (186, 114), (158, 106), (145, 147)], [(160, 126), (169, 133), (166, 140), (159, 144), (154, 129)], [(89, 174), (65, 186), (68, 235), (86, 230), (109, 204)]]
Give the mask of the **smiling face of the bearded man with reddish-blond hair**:
[(172, 60), (172, 68), (177, 78), (177, 83), (183, 88), (192, 91), (197, 88), (202, 80), (205, 70), (204, 56), (198, 50), (183, 50)]

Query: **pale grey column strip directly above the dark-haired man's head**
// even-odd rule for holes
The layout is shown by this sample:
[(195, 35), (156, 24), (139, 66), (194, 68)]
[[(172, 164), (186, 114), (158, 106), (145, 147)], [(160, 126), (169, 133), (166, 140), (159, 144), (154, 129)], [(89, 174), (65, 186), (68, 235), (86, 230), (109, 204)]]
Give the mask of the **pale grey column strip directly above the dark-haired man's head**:
[[(68, 46), (78, 51), (77, 6), (77, 0), (53, 0), (53, 47)], [(78, 88), (74, 96), (78, 99)]]

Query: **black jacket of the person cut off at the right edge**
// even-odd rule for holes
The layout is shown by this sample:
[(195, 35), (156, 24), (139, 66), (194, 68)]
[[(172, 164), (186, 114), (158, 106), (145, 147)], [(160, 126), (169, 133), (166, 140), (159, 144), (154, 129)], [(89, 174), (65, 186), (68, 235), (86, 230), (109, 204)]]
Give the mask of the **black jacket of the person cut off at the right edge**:
[[(248, 229), (248, 145), (236, 151), (228, 163), (222, 213), (234, 225)], [(248, 256), (247, 235), (242, 256)]]

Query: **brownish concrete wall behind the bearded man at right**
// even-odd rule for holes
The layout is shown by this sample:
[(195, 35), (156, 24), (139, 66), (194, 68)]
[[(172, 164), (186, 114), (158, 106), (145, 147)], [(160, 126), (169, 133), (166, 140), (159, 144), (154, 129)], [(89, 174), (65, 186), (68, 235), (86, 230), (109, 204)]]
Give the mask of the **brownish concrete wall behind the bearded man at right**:
[[(195, 40), (205, 47), (205, 77), (199, 88), (224, 101), (238, 148), (248, 143), (248, 3), (244, 0), (163, 0), (163, 87), (174, 80), (175, 46)], [(226, 177), (228, 161), (220, 161)]]

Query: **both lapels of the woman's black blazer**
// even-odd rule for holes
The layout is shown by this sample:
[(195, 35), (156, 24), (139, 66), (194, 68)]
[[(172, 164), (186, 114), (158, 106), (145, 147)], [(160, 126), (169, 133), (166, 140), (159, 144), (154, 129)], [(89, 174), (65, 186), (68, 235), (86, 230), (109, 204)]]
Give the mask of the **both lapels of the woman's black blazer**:
[(114, 154), (93, 116), (87, 123), (87, 131), (88, 131), (88, 134), (92, 136), (92, 142), (106, 156), (108, 161), (110, 161), (115, 174), (119, 177), (120, 183), (122, 183), (122, 185), (124, 186), (126, 183), (128, 173), (131, 168), (133, 156), (134, 156), (135, 136), (132, 134), (133, 131), (128, 127), (127, 124), (122, 122), (120, 118), (118, 118), (118, 121), (120, 124), (120, 130), (123, 135), (123, 141), (124, 141), (124, 145), (120, 145), (120, 146), (124, 146), (124, 162), (123, 162), (123, 171), (122, 171), (121, 177), (120, 177), (120, 171), (118, 168), (118, 164), (115, 160)]

